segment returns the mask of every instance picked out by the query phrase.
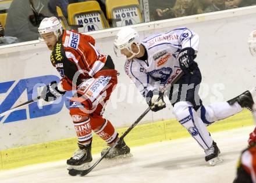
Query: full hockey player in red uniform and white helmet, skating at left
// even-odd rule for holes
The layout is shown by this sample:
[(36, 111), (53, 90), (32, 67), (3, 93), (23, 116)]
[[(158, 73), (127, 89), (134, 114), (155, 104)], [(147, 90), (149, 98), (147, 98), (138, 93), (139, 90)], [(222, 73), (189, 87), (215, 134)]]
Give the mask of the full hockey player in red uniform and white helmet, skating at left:
[[(62, 77), (61, 82), (51, 82), (45, 87), (44, 100), (53, 101), (66, 91), (76, 91), (70, 99), (69, 110), (79, 149), (67, 160), (67, 164), (68, 169), (81, 170), (92, 161), (92, 131), (109, 146), (118, 140), (118, 133), (111, 122), (102, 118), (106, 101), (118, 82), (117, 71), (111, 57), (100, 54), (95, 48), (93, 37), (63, 30), (56, 17), (42, 20), (38, 31), (52, 51), (52, 65)], [(129, 152), (125, 141), (121, 141), (106, 158)]]

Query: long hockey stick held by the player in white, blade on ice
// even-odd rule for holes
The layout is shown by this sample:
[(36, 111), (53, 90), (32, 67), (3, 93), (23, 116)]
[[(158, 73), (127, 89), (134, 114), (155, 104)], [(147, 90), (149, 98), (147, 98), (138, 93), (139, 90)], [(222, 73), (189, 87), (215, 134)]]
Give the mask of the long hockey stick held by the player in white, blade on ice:
[[(182, 76), (183, 76), (183, 72), (181, 72), (181, 73), (170, 83), (170, 85), (166, 85), (165, 90), (166, 90), (167, 87), (173, 86), (173, 85), (177, 82), (177, 80), (179, 80)], [(162, 97), (163, 97), (163, 93), (162, 93), (162, 95), (159, 97), (158, 101), (159, 101)], [(78, 174), (80, 174), (81, 176), (84, 176), (84, 175), (87, 175), (88, 173), (90, 173), (90, 171), (93, 170), (94, 167), (97, 166), (97, 164), (99, 164), (99, 162), (101, 162), (101, 160), (105, 158), (105, 156), (108, 154), (108, 152), (111, 151), (111, 149), (115, 148), (116, 145), (118, 145), (119, 142), (122, 141), (123, 138), (125, 138), (125, 136), (134, 128), (134, 126), (136, 126), (136, 125), (138, 124), (138, 122), (140, 122), (140, 120), (143, 119), (143, 117), (144, 117), (145, 115), (147, 115), (148, 112), (150, 112), (150, 110), (151, 110), (150, 107), (148, 107), (147, 110), (145, 110), (145, 111), (143, 112), (143, 114), (141, 114), (140, 117), (138, 117), (138, 119), (129, 127), (129, 129), (127, 129), (127, 130), (125, 131), (125, 133), (123, 133), (123, 135), (119, 138), (119, 140), (116, 141), (115, 144), (113, 144), (110, 148), (108, 148), (108, 151), (106, 151), (106, 152), (104, 153), (104, 155), (102, 155), (101, 158), (99, 158), (99, 159), (97, 160), (97, 162), (95, 162), (95, 163), (93, 164), (93, 166), (91, 166), (90, 168), (88, 168), (88, 169), (86, 169), (86, 170), (75, 170), (75, 169), (72, 169), (72, 170), (69, 170), (69, 174), (72, 175), (72, 176), (75, 176), (75, 175), (78, 175)]]

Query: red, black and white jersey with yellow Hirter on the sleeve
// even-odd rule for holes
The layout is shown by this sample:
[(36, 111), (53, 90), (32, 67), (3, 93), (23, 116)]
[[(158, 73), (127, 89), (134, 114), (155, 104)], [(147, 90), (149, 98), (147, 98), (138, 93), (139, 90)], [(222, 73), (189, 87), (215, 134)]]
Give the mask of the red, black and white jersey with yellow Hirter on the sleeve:
[(51, 62), (62, 76), (63, 89), (72, 90), (72, 83), (78, 86), (82, 79), (92, 78), (100, 71), (106, 57), (95, 48), (90, 35), (65, 30), (52, 51)]

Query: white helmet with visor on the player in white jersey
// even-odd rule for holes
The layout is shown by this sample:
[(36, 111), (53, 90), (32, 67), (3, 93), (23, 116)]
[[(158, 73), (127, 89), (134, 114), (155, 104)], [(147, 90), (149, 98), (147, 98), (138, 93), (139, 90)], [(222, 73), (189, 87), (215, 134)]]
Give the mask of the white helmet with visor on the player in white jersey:
[(138, 53), (134, 53), (133, 50), (131, 50), (131, 45), (135, 43), (138, 47), (138, 53), (140, 53), (140, 36), (138, 35), (138, 32), (130, 27), (123, 27), (121, 30), (116, 34), (116, 39), (114, 41), (114, 51), (116, 56), (120, 57), (122, 56), (121, 50), (127, 49), (129, 52), (131, 52), (133, 55), (130, 56), (128, 59), (133, 58)]

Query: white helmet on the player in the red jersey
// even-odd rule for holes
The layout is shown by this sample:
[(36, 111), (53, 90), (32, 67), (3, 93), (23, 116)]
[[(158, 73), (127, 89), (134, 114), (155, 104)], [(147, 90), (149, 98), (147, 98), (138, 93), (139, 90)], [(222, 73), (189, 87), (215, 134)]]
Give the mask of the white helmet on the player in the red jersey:
[(59, 38), (59, 35), (62, 34), (62, 31), (62, 24), (56, 17), (43, 19), (38, 27), (38, 32), (40, 35), (54, 32), (54, 35), (57, 37), (57, 39)]

